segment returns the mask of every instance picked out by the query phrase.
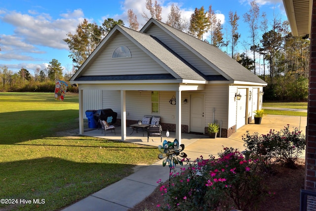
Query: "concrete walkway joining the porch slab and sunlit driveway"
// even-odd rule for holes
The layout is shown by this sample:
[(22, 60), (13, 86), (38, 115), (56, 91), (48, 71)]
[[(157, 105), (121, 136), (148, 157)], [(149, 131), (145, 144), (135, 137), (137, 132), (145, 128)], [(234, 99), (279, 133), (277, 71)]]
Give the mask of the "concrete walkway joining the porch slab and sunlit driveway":
[[(185, 144), (184, 152), (188, 154), (188, 158), (195, 160), (201, 155), (206, 159), (209, 155), (216, 156), (218, 152), (222, 151), (224, 147), (238, 148), (240, 151), (244, 150), (241, 136), (249, 131), (250, 134), (259, 132), (266, 134), (270, 129), (279, 131), (287, 124), (292, 127), (299, 127), (305, 134), (307, 125), (306, 117), (296, 116), (280, 116), (267, 115), (262, 119), (261, 125), (250, 123), (237, 130), (229, 138), (215, 138), (210, 139), (204, 135), (183, 134), (182, 143)], [(116, 136), (112, 133), (107, 133), (106, 136), (100, 134), (99, 130), (92, 130), (84, 133), (87, 136), (103, 137), (107, 139), (118, 139), (120, 137), (117, 131)], [(151, 146), (161, 145), (160, 138), (152, 139), (147, 142), (147, 137), (143, 137), (142, 133), (132, 134), (128, 137), (128, 142), (137, 144), (148, 144)], [(138, 135), (138, 136), (135, 136)], [(174, 133), (171, 133), (168, 138), (169, 141), (174, 140)], [(158, 155), (157, 149), (157, 155)], [(302, 155), (305, 157), (305, 154)], [(181, 166), (177, 166), (179, 169)], [(157, 181), (161, 179), (166, 181), (169, 179), (169, 168), (162, 167), (162, 161), (154, 163), (153, 165), (138, 168), (133, 174), (126, 178), (88, 196), (87, 198), (65, 208), (63, 211), (127, 211), (133, 208), (136, 204), (143, 201), (149, 196), (158, 186)]]

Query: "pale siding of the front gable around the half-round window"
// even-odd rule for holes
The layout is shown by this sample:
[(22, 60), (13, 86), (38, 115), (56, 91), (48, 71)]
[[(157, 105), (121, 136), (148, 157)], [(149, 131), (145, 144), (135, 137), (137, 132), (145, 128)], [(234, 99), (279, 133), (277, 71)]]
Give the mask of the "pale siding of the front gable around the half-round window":
[[(131, 58), (112, 58), (113, 51), (120, 45), (128, 47)], [(95, 55), (94, 62), (83, 73), (83, 76), (167, 73), (150, 56), (120, 33), (102, 50), (99, 55)]]

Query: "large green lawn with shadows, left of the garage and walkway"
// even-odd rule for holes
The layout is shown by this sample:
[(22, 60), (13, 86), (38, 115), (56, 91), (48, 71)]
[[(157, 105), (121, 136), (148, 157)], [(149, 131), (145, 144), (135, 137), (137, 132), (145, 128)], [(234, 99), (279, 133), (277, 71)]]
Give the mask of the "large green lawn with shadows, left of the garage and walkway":
[(156, 147), (59, 136), (79, 127), (78, 110), (78, 94), (0, 93), (0, 199), (18, 200), (0, 210), (59, 210), (158, 160)]

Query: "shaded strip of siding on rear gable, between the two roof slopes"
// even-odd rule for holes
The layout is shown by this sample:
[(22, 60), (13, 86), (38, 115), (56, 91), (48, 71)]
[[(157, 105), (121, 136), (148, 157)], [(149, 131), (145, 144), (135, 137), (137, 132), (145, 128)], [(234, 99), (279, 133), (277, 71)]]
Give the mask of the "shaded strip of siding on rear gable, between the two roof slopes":
[(197, 70), (205, 75), (220, 75), (217, 71), (203, 62), (200, 58), (198, 58), (194, 53), (189, 51), (182, 44), (177, 42), (175, 39), (171, 38), (167, 33), (161, 30), (158, 26), (152, 26), (147, 32), (152, 36), (157, 37), (161, 42), (170, 47), (174, 52), (179, 54), (182, 58), (192, 64)]

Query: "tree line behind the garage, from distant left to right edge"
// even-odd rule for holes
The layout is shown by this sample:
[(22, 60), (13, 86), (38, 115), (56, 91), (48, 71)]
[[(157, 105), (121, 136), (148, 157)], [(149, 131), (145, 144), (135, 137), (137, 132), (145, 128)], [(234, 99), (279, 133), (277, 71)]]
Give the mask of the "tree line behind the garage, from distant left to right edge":
[[(145, 7), (150, 16), (143, 12), (142, 18), (146, 21), (150, 18), (162, 21), (162, 7), (157, 0), (155, 2), (146, 0)], [(129, 28), (139, 31), (138, 17), (132, 9), (128, 9), (127, 16)], [(229, 24), (224, 29), (212, 5), (209, 5), (207, 10), (203, 6), (196, 8), (188, 21), (181, 15), (180, 8), (172, 4), (164, 23), (218, 47), (266, 81), (268, 85), (264, 88), (265, 100), (307, 100), (310, 40), (293, 37), (288, 22), (281, 21), (276, 14), (273, 14), (272, 19), (269, 20), (267, 14), (260, 11), (256, 0), (250, 2), (249, 10), (241, 17), (237, 11), (232, 10), (229, 11), (228, 17)], [(239, 21), (245, 22), (249, 29), (248, 34), (243, 35), (248, 38), (244, 42), (240, 42)], [(112, 18), (104, 20), (101, 25), (89, 23), (84, 19), (79, 23), (74, 34), (67, 34), (64, 42), (69, 46), (69, 57), (74, 63), (72, 73), (78, 70), (116, 24), (125, 25), (122, 20)], [(244, 49), (237, 51), (237, 46), (243, 46)], [(51, 71), (49, 68), (46, 72), (42, 71), (35, 74), (36, 80), (44, 80), (44, 73), (49, 80), (56, 78), (56, 75), (53, 77), (49, 72)], [(37, 73), (38, 70), (35, 72)], [(58, 71), (53, 73), (56, 74)], [(3, 70), (2, 72), (0, 70), (0, 74), (3, 75)], [(3, 87), (3, 77), (1, 78), (0, 83)], [(67, 80), (67, 77), (64, 78)]]

